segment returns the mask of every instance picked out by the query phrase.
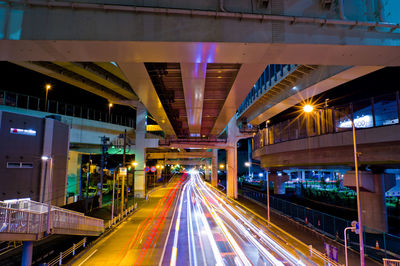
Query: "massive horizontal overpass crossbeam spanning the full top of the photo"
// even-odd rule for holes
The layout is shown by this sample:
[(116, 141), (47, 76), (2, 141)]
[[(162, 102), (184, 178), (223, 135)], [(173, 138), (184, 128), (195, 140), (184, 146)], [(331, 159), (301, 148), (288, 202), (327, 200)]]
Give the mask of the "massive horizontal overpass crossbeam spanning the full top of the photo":
[[(53, 2), (59, 1), (45, 3)], [(101, 1), (104, 2), (107, 1)], [(270, 2), (265, 9), (259, 8), (255, 1), (227, 0), (224, 4), (225, 10), (229, 12), (339, 18), (335, 4), (325, 10), (321, 8), (320, 1)], [(345, 2), (344, 13), (348, 19), (371, 20), (381, 13), (381, 9), (374, 6), (375, 0)], [(380, 2), (384, 6), (384, 17), (398, 23), (398, 12), (390, 13), (389, 16), (387, 11), (396, 5), (396, 0)], [(132, 5), (143, 6), (143, 1), (109, 3), (126, 5), (126, 10), (104, 10), (101, 5), (84, 9), (69, 6), (49, 8), (46, 5), (32, 7), (26, 2), (0, 6), (0, 59), (197, 62), (200, 58), (210, 63), (225, 61), (324, 65), (396, 65), (400, 60), (394, 56), (400, 49), (399, 29), (390, 33), (387, 28), (350, 29), (340, 25), (321, 26), (319, 23), (271, 20), (261, 22), (240, 17), (150, 14), (135, 12), (130, 8)], [(218, 0), (154, 0), (146, 1), (145, 5), (188, 11), (220, 11)], [(99, 9), (96, 10), (96, 7)]]

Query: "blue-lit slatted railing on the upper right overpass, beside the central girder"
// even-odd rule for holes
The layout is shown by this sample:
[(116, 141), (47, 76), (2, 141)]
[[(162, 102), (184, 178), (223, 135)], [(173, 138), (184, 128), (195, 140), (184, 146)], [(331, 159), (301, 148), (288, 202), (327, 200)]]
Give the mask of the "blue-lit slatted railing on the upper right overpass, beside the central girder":
[(239, 106), (237, 117), (240, 117), (255, 101), (257, 101), (271, 87), (280, 82), (296, 70), (297, 65), (268, 65), (260, 78), (254, 84), (250, 93)]

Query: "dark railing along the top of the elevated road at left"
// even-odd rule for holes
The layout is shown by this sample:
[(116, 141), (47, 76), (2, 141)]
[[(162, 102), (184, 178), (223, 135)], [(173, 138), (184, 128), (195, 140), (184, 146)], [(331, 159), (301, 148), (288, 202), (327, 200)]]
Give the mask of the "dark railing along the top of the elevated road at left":
[(115, 115), (112, 113), (109, 116), (108, 112), (105, 111), (88, 108), (82, 105), (67, 104), (53, 100), (47, 101), (46, 108), (45, 99), (43, 98), (3, 90), (0, 90), (0, 105), (48, 112), (65, 116), (79, 117), (89, 120), (96, 120), (105, 123), (127, 126), (131, 128), (136, 127), (136, 119), (133, 117)]

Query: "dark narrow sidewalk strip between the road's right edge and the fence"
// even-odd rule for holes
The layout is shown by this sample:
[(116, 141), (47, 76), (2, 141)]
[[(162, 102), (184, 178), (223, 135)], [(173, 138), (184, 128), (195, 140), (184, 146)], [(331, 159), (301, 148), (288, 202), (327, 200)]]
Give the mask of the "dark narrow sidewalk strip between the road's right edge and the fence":
[[(245, 199), (241, 195), (239, 195), (238, 201), (253, 210), (257, 214), (262, 217), (267, 216), (267, 209), (265, 206), (262, 206), (261, 203), (255, 203), (251, 200)], [(314, 230), (304, 226), (296, 221), (281, 215), (271, 209), (271, 222), (281, 229), (285, 230), (289, 234), (298, 238), (300, 241), (304, 242), (307, 245), (312, 245), (313, 248), (319, 250), (324, 253), (324, 242), (334, 245), (338, 249), (339, 263), (345, 264), (345, 254), (344, 254), (344, 245), (338, 243)], [(360, 265), (360, 255), (359, 253), (348, 249), (348, 263), (349, 265)], [(365, 265), (382, 265), (381, 263), (376, 262), (368, 257), (365, 257)]]

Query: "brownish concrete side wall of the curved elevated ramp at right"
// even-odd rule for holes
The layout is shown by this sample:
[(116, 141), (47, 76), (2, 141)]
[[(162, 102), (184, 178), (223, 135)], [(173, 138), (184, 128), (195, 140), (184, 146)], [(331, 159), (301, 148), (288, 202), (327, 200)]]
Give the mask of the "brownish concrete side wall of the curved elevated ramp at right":
[[(400, 163), (400, 125), (357, 129), (359, 165)], [(352, 132), (341, 132), (265, 146), (253, 157), (263, 167), (354, 164)]]

